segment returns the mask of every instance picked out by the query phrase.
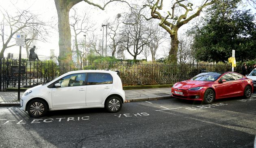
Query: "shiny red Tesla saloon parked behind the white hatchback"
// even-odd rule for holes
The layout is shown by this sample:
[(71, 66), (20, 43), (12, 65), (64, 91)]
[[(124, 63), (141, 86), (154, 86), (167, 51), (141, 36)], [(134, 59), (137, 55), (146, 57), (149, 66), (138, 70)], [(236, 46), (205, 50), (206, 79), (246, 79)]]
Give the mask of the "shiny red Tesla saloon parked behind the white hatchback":
[(252, 79), (234, 72), (200, 73), (192, 79), (178, 82), (171, 88), (173, 97), (212, 103), (215, 99), (251, 97)]

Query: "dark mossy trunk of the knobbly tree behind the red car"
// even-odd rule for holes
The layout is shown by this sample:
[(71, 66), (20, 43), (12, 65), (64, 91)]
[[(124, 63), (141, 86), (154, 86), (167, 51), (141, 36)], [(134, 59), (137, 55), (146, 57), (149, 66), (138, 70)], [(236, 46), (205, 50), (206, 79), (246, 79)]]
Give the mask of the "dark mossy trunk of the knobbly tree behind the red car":
[(178, 45), (180, 41), (178, 40), (178, 33), (171, 35), (171, 49), (169, 51), (168, 61), (171, 64), (177, 64), (177, 52), (178, 52)]

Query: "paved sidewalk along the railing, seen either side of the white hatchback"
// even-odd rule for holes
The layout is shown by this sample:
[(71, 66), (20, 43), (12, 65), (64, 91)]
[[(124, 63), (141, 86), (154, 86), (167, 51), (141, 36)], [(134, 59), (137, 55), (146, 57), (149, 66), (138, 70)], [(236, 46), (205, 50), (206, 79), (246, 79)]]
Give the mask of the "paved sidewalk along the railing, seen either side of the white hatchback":
[[(171, 98), (171, 88), (148, 88), (124, 90), (126, 102), (148, 101)], [(24, 92), (20, 92), (22, 96)], [(18, 92), (0, 92), (0, 107), (20, 106)]]

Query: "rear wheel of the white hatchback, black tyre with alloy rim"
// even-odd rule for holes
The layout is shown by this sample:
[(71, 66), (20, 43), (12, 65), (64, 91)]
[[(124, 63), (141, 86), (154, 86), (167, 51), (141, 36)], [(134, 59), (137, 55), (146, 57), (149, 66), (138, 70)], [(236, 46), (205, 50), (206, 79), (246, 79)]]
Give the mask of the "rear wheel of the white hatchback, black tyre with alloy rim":
[(122, 108), (122, 105), (123, 104), (121, 99), (117, 96), (113, 96), (106, 100), (105, 109), (110, 113), (116, 113), (119, 112), (119, 110)]

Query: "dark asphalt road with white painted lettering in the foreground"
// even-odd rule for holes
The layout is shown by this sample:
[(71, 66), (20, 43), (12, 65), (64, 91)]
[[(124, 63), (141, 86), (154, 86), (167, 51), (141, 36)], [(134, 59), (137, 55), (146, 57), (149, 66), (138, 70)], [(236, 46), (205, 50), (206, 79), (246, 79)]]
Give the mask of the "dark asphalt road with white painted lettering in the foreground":
[(252, 148), (255, 106), (256, 97), (211, 105), (171, 98), (125, 103), (115, 114), (72, 109), (43, 118), (0, 107), (0, 148)]

